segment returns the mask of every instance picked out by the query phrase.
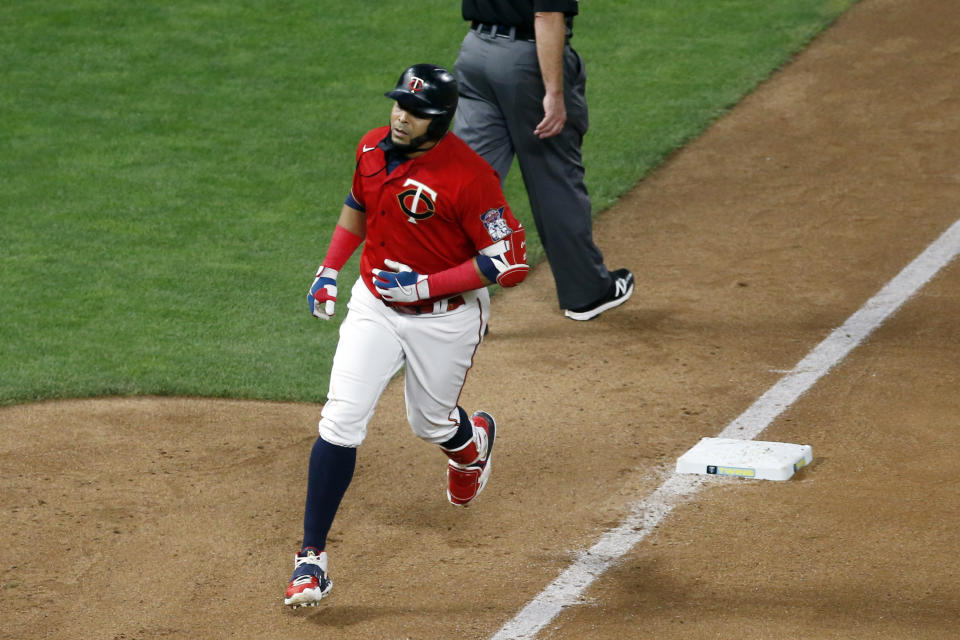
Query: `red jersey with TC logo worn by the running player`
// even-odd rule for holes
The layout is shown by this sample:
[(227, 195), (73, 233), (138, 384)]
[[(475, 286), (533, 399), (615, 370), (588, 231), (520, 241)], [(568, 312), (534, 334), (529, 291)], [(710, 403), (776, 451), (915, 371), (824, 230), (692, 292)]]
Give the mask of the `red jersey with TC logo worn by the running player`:
[(455, 267), (521, 228), (487, 162), (452, 133), (432, 149), (387, 172), (377, 145), (390, 132), (368, 132), (357, 146), (351, 196), (366, 212), (360, 276), (373, 286), (372, 269), (386, 259), (432, 274)]

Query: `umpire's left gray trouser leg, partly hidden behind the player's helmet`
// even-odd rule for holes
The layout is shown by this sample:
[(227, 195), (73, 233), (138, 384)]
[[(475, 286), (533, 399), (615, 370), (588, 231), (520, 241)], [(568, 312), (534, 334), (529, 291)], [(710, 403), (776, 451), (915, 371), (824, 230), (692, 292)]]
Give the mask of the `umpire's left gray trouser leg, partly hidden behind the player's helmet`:
[[(503, 38), (499, 40), (503, 42)], [(460, 99), (452, 131), (483, 156), (503, 184), (513, 163), (513, 144), (487, 79), (491, 56), (497, 54), (498, 46), (496, 38), (478, 36), (473, 31), (464, 37), (454, 65)]]

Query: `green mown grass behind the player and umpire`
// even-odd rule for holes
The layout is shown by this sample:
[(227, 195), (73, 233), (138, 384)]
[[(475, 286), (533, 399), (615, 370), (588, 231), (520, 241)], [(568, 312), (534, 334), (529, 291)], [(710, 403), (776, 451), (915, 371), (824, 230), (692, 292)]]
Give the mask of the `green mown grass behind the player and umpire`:
[[(595, 211), (852, 1), (584, 3)], [(0, 404), (322, 401), (338, 324), (305, 292), (353, 150), (463, 32), (441, 0), (0, 6)], [(532, 229), (519, 172), (506, 191)]]

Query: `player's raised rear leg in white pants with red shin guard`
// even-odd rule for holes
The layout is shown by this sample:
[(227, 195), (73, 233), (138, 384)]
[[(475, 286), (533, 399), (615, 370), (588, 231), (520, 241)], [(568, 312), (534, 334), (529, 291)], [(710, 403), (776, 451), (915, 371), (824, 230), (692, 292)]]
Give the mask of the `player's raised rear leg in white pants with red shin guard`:
[(404, 393), (414, 433), (449, 459), (447, 497), (465, 505), (487, 483), (496, 424), (486, 412), (468, 416), (457, 402), (483, 337), (490, 299), (486, 289), (464, 309), (413, 318), (407, 332)]

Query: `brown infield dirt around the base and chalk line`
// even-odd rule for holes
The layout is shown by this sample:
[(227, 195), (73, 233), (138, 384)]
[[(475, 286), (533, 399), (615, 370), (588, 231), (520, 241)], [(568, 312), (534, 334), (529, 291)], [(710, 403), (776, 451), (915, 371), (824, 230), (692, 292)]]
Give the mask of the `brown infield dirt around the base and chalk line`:
[[(392, 384), (320, 607), (282, 606), (318, 406), (0, 409), (0, 638), (491, 637), (960, 217), (956, 25), (863, 0), (601, 214), (624, 307), (564, 319), (545, 265), (497, 295), (462, 403), (501, 430), (469, 508)], [(954, 261), (762, 434), (810, 467), (710, 483), (538, 637), (957, 637), (958, 319)]]

